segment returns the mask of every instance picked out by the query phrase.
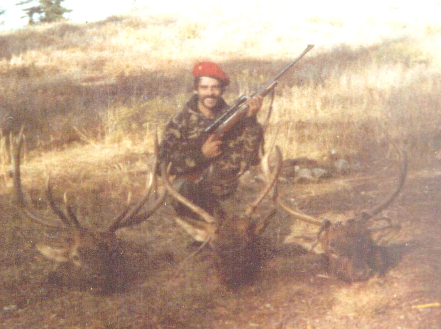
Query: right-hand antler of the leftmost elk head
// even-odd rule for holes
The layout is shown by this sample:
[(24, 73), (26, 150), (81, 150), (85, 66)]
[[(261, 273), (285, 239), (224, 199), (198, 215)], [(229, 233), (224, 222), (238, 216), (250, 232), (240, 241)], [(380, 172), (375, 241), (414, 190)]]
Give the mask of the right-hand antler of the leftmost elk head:
[[(165, 198), (166, 192), (165, 189), (159, 195), (159, 197), (153, 202), (152, 206), (144, 211), (142, 214), (137, 215), (141, 208), (148, 201), (152, 188), (157, 188), (157, 166), (158, 166), (158, 134), (155, 133), (155, 141), (154, 141), (154, 154), (155, 160), (153, 162), (153, 168), (149, 175), (149, 180), (146, 186), (146, 191), (144, 192), (143, 197), (138, 203), (136, 203), (132, 208), (126, 208), (120, 215), (118, 215), (112, 222), (109, 227), (110, 232), (115, 232), (116, 230), (132, 226), (142, 222), (143, 220), (150, 217), (153, 212), (161, 205), (162, 201)], [(156, 192), (156, 191), (155, 191)]]

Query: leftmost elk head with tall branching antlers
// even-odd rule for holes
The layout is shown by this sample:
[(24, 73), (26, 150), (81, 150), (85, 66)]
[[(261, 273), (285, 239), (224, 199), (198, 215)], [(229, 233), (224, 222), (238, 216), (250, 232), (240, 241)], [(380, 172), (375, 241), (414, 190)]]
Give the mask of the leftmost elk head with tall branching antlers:
[[(132, 206), (127, 205), (124, 211), (112, 219), (112, 224), (107, 230), (95, 230), (80, 224), (66, 194), (64, 194), (65, 210), (56, 204), (52, 195), (49, 175), (46, 181), (47, 201), (52, 212), (58, 218), (43, 216), (30, 206), (24, 197), (20, 179), (22, 131), (17, 137), (12, 138), (11, 136), (10, 138), (13, 189), (18, 210), (35, 223), (67, 232), (67, 239), (61, 247), (55, 248), (45, 244), (36, 246), (44, 257), (55, 263), (56, 270), (52, 272), (53, 275), (56, 273), (55, 280), (62, 280), (68, 285), (98, 292), (121, 288), (126, 280), (124, 270), (127, 256), (124, 253), (122, 241), (115, 235), (115, 232), (120, 228), (146, 220), (163, 203), (166, 189), (163, 189), (159, 195), (155, 191), (156, 164), (150, 173), (150, 179), (141, 200)], [(157, 156), (157, 139), (155, 140), (155, 152)]]

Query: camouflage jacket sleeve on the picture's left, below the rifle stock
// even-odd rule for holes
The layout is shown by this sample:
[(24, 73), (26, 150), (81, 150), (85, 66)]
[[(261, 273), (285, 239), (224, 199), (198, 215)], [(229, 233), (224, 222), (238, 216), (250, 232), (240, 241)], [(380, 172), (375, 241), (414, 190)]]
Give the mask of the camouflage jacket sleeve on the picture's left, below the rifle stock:
[(169, 121), (159, 146), (159, 159), (161, 163), (172, 163), (171, 174), (191, 173), (208, 165), (199, 137), (189, 127), (187, 113), (181, 112)]

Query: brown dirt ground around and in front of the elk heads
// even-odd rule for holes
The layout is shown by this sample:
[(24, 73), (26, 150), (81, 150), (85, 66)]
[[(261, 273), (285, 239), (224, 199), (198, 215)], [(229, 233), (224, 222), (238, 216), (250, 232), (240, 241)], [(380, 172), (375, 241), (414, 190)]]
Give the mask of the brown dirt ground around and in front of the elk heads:
[[(283, 183), (280, 194), (308, 214), (344, 220), (387, 195), (396, 181), (394, 170), (379, 162), (317, 183)], [(62, 195), (63, 181), (54, 180)], [(352, 284), (329, 277), (316, 258), (299, 255), (294, 243), (283, 244), (296, 235), (296, 227), (309, 230), (311, 236), (317, 229), (305, 228), (279, 209), (265, 232), (270, 257), (257, 280), (228, 292), (209, 249), (182, 263), (194, 251), (192, 240), (174, 222), (171, 207), (165, 206), (147, 222), (118, 232), (137, 264), (136, 278), (127, 289), (108, 295), (72, 287), (43, 291), (41, 282), (52, 265), (34, 245), (56, 243), (60, 234), (12, 220), (9, 191), (4, 189), (1, 324), (9, 329), (441, 328), (440, 186), (441, 166), (410, 169), (402, 193), (383, 213), (402, 229), (389, 241), (395, 262), (382, 277)], [(244, 209), (259, 188), (258, 182), (244, 179), (225, 207)], [(95, 193), (82, 202), (105, 221), (117, 206), (106, 202), (102, 189)], [(270, 206), (267, 200), (261, 205)]]

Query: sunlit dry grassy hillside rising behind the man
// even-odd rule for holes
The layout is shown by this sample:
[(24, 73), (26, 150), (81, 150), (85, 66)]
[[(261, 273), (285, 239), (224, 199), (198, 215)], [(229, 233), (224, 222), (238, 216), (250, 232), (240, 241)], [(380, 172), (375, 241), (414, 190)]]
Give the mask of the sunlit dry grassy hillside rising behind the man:
[(285, 157), (372, 150), (377, 120), (419, 158), (441, 148), (441, 25), (264, 9), (242, 19), (145, 10), (2, 32), (3, 133), (24, 124), (29, 148), (44, 149), (149, 140), (189, 97), (196, 61), (221, 63), (232, 101), (314, 43), (277, 89), (267, 140), (278, 131)]

